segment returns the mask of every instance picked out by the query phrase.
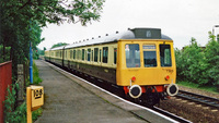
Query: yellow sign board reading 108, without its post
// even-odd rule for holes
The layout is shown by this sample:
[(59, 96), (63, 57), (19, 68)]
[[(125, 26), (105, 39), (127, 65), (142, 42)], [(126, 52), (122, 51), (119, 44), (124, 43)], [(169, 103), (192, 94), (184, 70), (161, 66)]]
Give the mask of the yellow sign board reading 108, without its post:
[(44, 104), (44, 87), (31, 86), (32, 89), (32, 109), (38, 108)]

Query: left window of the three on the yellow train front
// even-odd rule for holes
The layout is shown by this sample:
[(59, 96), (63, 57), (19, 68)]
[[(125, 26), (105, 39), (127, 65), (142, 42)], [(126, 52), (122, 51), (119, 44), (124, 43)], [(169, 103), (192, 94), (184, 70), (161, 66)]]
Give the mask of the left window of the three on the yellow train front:
[(130, 44), (125, 46), (126, 51), (126, 66), (140, 67), (140, 50), (138, 44)]

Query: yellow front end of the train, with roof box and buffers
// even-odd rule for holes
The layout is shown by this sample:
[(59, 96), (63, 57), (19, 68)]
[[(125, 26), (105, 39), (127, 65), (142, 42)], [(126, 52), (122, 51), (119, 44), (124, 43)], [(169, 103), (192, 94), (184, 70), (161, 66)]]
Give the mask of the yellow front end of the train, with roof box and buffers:
[(127, 96), (148, 106), (175, 96), (178, 88), (173, 40), (154, 28), (132, 33), (135, 39), (118, 40), (117, 85)]

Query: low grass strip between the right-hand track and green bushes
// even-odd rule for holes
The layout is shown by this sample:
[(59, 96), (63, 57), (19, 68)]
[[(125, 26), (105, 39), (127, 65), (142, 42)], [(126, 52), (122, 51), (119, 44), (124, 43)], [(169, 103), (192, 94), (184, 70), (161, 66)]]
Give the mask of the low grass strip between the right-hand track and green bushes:
[(180, 81), (177, 81), (177, 84), (181, 86), (185, 86), (185, 87), (197, 88), (197, 89), (201, 89), (205, 91), (219, 94), (216, 86), (199, 86), (198, 84), (194, 84), (194, 83), (189, 83), (189, 82), (180, 82)]

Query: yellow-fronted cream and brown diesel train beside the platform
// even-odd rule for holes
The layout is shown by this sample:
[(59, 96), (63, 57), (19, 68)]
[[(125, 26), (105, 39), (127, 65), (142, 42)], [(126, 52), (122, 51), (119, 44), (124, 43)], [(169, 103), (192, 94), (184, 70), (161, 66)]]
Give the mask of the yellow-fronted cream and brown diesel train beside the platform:
[(116, 85), (129, 99), (150, 106), (178, 91), (173, 40), (160, 28), (127, 29), (54, 48), (45, 51), (45, 60)]

